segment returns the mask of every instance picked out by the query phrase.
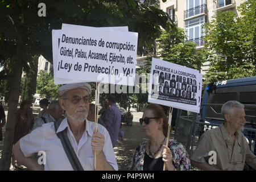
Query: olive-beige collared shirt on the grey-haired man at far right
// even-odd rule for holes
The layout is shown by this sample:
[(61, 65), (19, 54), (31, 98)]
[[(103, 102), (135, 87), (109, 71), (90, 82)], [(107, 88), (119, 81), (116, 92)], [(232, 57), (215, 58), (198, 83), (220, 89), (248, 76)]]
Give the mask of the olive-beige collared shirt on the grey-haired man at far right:
[(229, 167), (243, 170), (245, 163), (256, 169), (256, 156), (250, 151), (249, 144), (241, 131), (236, 131), (234, 143), (230, 140), (230, 135), (222, 124), (216, 129), (205, 131), (199, 140), (199, 144), (191, 160), (199, 163), (208, 163), (215, 151), (217, 160), (213, 167), (225, 170)]

